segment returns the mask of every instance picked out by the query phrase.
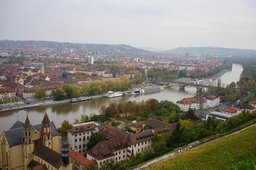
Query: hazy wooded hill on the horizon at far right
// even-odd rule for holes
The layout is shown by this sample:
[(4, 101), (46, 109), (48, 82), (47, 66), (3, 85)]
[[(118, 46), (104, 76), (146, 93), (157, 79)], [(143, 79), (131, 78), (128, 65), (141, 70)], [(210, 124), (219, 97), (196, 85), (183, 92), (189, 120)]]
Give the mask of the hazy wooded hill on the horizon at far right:
[(163, 51), (166, 54), (214, 54), (214, 55), (256, 55), (253, 49), (220, 48), (220, 47), (179, 47)]

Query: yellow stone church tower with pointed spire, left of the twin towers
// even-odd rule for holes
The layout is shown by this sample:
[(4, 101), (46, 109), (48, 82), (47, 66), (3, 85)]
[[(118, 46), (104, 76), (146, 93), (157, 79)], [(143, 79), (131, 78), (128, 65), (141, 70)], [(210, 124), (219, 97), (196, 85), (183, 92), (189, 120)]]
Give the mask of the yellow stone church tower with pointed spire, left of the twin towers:
[(32, 152), (34, 151), (34, 141), (33, 141), (33, 128), (29, 122), (28, 115), (25, 121), (25, 124), (22, 128), (23, 133), (23, 169), (27, 169), (29, 162), (33, 159)]

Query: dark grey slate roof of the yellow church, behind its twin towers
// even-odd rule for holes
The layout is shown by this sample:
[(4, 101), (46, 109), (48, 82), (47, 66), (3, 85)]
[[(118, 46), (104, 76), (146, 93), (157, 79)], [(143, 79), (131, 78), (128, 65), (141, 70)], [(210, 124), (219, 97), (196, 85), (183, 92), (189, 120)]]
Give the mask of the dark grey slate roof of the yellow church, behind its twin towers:
[[(17, 123), (17, 122), (16, 122), (16, 123)], [(15, 125), (16, 123), (14, 123), (14, 125)], [(22, 123), (22, 122), (21, 122), (21, 123)], [(18, 124), (21, 124), (21, 123), (18, 123)], [(13, 126), (14, 126), (14, 125), (13, 125)], [(20, 126), (20, 125), (19, 125), (19, 126)], [(22, 126), (22, 127), (23, 127), (23, 126)], [(22, 139), (23, 139), (22, 127), (17, 128), (17, 129), (10, 129), (10, 130), (5, 130), (5, 131), (4, 131), (6, 140), (8, 141), (10, 147), (15, 146), (15, 145), (22, 144)], [(41, 124), (34, 125), (34, 126), (32, 126), (32, 128), (33, 128), (33, 131), (34, 131), (34, 129), (37, 129), (37, 130), (39, 130), (39, 131), (42, 130)], [(51, 134), (52, 134), (52, 137), (59, 135), (59, 132), (57, 131), (57, 129), (56, 129), (56, 127), (55, 127), (55, 125), (54, 125), (53, 122), (51, 122)]]

